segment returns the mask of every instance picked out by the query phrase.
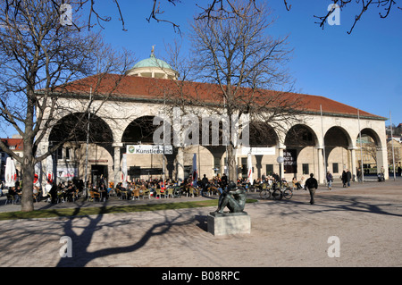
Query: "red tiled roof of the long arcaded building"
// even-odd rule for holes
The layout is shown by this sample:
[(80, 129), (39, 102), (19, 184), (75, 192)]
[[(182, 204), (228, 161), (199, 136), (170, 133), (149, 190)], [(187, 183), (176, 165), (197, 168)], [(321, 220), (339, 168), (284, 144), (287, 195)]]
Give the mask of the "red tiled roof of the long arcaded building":
[[(118, 85), (116, 85), (118, 81)], [(99, 83), (100, 82), (100, 83)], [(66, 86), (66, 90), (72, 93), (82, 95), (89, 94), (89, 88), (97, 94), (113, 94), (121, 98), (138, 98), (138, 99), (163, 99), (164, 94), (170, 97), (170, 92), (177, 89), (176, 84), (181, 84), (180, 81), (153, 79), (137, 76), (124, 76), (121, 77), (116, 74), (107, 74), (102, 80), (98, 81), (97, 76), (91, 76), (82, 80), (76, 80)], [(220, 94), (219, 88), (214, 84), (199, 83), (199, 82), (184, 82), (182, 85), (184, 94), (188, 94), (193, 98), (201, 99), (204, 101), (212, 101), (222, 103), (222, 96), (219, 99), (214, 98), (214, 95)], [(249, 88), (245, 88), (251, 90)], [(264, 90), (264, 96), (277, 92), (272, 90)], [(221, 92), (222, 94), (222, 92)], [(188, 99), (190, 98), (188, 96)], [(300, 100), (303, 105), (303, 110), (306, 112), (320, 113), (320, 106), (322, 106), (322, 113), (333, 115), (346, 115), (357, 116), (357, 108), (342, 104), (340, 102), (331, 100), (324, 96), (313, 96), (299, 93), (286, 92), (281, 96), (294, 97)], [(220, 101), (220, 102), (219, 102)], [(384, 117), (367, 113), (363, 110), (359, 111), (361, 117), (369, 117), (377, 120), (387, 120)]]

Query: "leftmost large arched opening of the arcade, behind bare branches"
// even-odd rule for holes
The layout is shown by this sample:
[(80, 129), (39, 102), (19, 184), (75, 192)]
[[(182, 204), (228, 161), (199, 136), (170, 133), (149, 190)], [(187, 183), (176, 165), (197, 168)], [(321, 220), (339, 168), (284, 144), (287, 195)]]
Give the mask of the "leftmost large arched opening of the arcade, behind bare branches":
[(113, 133), (104, 120), (95, 114), (88, 119), (86, 113), (71, 113), (54, 125), (49, 135), (49, 147), (63, 140), (67, 141), (54, 152), (51, 160), (47, 160), (47, 163), (52, 163), (56, 180), (78, 180), (76, 183), (79, 185), (86, 178), (92, 183), (101, 177), (106, 182), (110, 180), (109, 175), (113, 173)]

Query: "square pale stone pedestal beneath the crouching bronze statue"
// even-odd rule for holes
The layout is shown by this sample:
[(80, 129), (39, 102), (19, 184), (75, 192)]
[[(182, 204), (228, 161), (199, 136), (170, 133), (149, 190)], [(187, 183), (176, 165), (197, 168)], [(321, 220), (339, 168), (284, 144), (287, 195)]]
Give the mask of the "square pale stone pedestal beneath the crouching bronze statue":
[(207, 216), (208, 232), (214, 236), (250, 233), (251, 219), (246, 212), (215, 213)]

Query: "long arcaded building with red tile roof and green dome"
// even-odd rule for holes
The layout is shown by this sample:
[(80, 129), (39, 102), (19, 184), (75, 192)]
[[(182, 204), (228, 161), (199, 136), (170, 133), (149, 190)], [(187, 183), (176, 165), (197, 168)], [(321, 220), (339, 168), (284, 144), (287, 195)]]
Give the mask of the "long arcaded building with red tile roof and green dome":
[[(90, 114), (88, 130), (96, 127), (96, 133), (90, 139), (81, 137), (65, 143), (43, 163), (42, 171), (52, 172), (58, 180), (96, 181), (102, 175), (116, 183), (159, 179), (164, 175), (180, 181), (191, 175), (196, 157), (200, 176), (205, 174), (212, 178), (225, 172), (225, 146), (172, 146), (165, 154), (155, 150), (152, 122), (166, 110), (166, 87), (174, 84), (175, 74), (169, 64), (156, 59), (154, 54), (136, 64), (115, 90), (119, 96), (111, 96), (107, 101), (95, 98), (92, 102), (96, 113)], [(80, 83), (89, 81), (85, 79)], [(59, 105), (68, 106), (73, 113), (85, 113), (90, 96), (88, 85), (82, 84), (80, 96), (60, 96)], [(253, 179), (273, 172), (281, 173), (288, 180), (314, 173), (323, 183), (326, 170), (335, 178), (346, 169), (356, 175), (357, 168), (362, 167), (362, 160), (357, 156), (362, 135), (373, 141), (377, 167), (388, 166), (386, 118), (323, 96), (294, 96), (304, 98), (306, 112), (297, 124), (284, 125), (284, 131), (269, 130), (272, 135), (265, 142), (253, 145), (253, 138), (250, 138), (251, 149), (239, 147), (236, 152), (240, 177), (247, 177), (248, 154), (252, 155)], [(46, 151), (60, 139), (64, 123), (74, 120), (73, 113), (59, 113), (60, 123), (47, 130), (39, 151)], [(299, 136), (295, 137), (293, 130), (297, 130)], [(141, 146), (145, 150), (136, 153), (134, 150)], [(150, 146), (154, 146), (154, 150)], [(284, 163), (277, 162), (279, 156), (285, 158)]]

